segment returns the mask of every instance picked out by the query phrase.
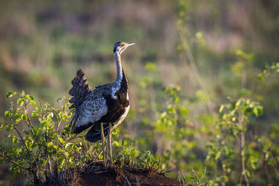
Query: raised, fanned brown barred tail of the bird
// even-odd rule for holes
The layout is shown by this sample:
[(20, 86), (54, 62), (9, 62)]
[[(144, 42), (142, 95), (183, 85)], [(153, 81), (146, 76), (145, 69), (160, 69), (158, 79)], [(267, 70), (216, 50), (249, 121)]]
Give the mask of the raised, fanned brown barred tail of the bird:
[(77, 70), (75, 78), (72, 81), (73, 88), (70, 89), (69, 94), (73, 96), (70, 99), (70, 109), (77, 108), (82, 104), (86, 95), (90, 92), (90, 87), (88, 85), (87, 79), (81, 69)]

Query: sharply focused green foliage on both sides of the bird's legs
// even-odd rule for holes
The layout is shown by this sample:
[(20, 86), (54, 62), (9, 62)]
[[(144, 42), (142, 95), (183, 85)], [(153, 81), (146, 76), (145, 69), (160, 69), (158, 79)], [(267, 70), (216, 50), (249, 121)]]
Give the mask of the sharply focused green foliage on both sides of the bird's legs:
[[(8, 164), (9, 171), (13, 173), (12, 180), (18, 173), (23, 173), (29, 179), (28, 184), (53, 183), (57, 173), (65, 178), (59, 176), (56, 179), (69, 179), (67, 173), (70, 169), (86, 169), (84, 167), (88, 162), (103, 160), (101, 153), (94, 150), (100, 148), (100, 144), (91, 146), (84, 141), (83, 135), (80, 136), (82, 143), (71, 134), (68, 118), (72, 112), (68, 109), (68, 100), (57, 99), (57, 102), (62, 102), (61, 108), (48, 103), (40, 103), (37, 107), (33, 96), (25, 95), (24, 91), (10, 91), (6, 97), (13, 98), (15, 95), (20, 97), (17, 105), (11, 102), (10, 109), (5, 111), (8, 123), (1, 124), (1, 128), (6, 126), (6, 141), (1, 144), (0, 150), (0, 161)], [(30, 111), (32, 105), (33, 110)], [(118, 137), (118, 132), (114, 130), (113, 136)], [(111, 166), (163, 172), (160, 160), (150, 151), (140, 153), (133, 144), (128, 146), (126, 139), (120, 143), (114, 141), (114, 146), (116, 153)]]

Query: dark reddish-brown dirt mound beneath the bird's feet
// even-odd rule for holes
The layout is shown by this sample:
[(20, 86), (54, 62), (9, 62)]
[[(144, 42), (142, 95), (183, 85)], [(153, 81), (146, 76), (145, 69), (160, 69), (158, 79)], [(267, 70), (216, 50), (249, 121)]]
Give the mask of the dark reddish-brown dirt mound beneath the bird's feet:
[(151, 169), (93, 164), (80, 173), (77, 185), (180, 185), (179, 181), (168, 178), (165, 173)]

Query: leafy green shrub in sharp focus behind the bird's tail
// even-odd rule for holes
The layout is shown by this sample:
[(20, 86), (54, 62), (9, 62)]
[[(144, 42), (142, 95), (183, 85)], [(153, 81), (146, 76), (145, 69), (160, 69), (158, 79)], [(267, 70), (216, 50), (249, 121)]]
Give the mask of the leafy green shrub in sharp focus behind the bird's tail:
[(6, 127), (6, 139), (0, 148), (0, 161), (8, 164), (12, 179), (23, 173), (29, 184), (50, 183), (55, 173), (81, 164), (82, 144), (72, 140), (75, 136), (68, 125), (61, 127), (72, 115), (66, 109), (68, 100), (59, 98), (62, 106), (57, 108), (47, 102), (38, 106), (33, 96), (24, 91), (10, 91), (6, 97), (15, 95), (19, 98), (16, 104), (11, 102), (10, 109), (5, 111), (7, 123), (1, 125)]

